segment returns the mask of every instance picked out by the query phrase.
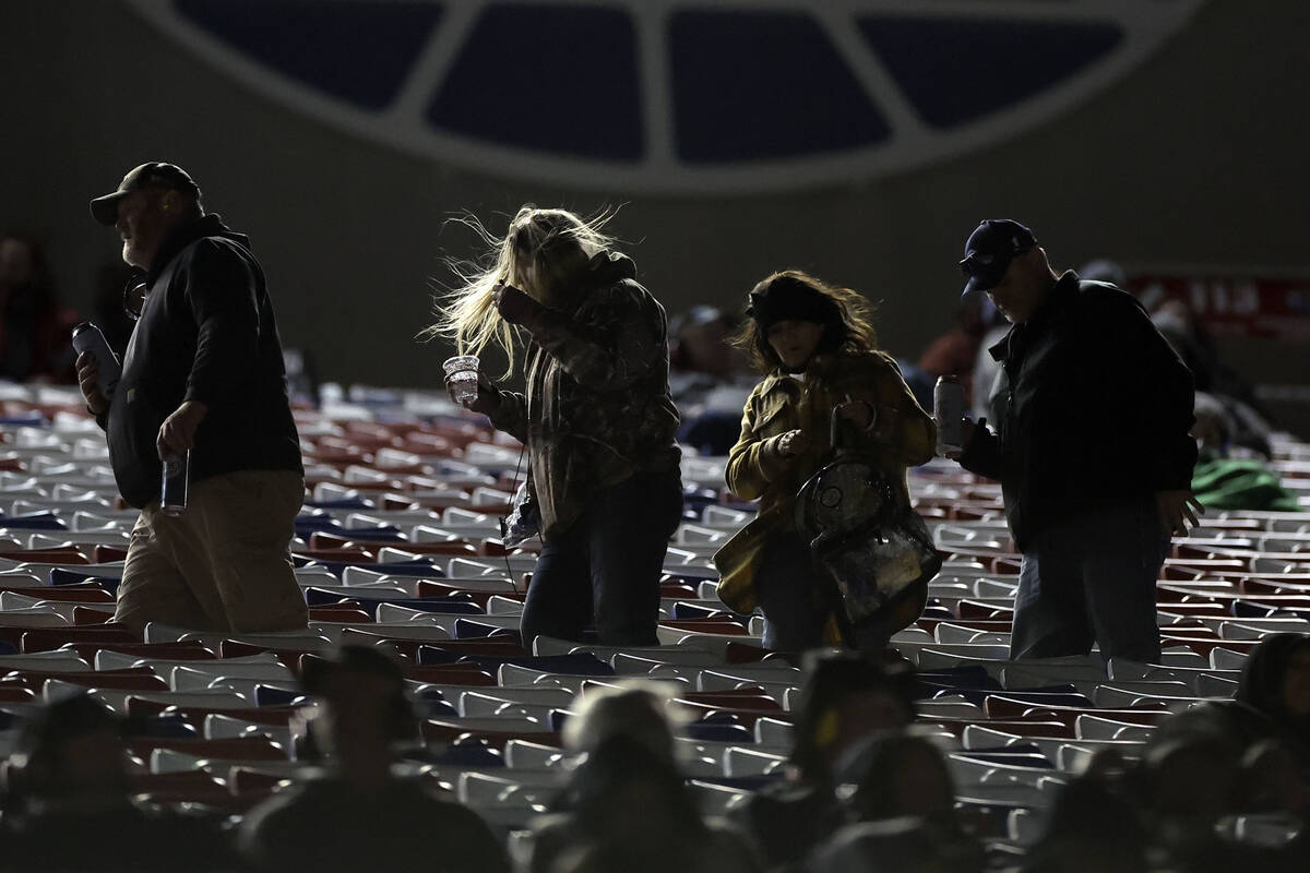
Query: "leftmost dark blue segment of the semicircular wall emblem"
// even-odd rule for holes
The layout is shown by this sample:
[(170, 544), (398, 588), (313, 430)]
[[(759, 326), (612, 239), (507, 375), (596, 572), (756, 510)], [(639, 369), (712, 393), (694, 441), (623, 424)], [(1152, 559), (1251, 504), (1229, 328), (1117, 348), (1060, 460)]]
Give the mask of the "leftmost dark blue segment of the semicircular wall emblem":
[(400, 92), (432, 29), (435, 3), (174, 0), (178, 13), (232, 47), (356, 106)]

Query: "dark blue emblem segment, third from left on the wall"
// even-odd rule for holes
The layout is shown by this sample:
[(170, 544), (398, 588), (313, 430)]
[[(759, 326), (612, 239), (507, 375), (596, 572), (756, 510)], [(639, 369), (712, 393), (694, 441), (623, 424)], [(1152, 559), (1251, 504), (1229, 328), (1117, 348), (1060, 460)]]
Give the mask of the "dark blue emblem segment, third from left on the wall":
[(677, 153), (690, 164), (802, 157), (888, 136), (804, 13), (679, 12), (669, 58)]

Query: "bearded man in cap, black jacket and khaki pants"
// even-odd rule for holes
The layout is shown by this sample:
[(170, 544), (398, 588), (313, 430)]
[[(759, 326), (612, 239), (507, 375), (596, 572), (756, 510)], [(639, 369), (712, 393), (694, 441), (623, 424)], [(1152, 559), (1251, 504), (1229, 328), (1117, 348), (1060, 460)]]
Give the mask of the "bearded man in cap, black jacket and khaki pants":
[[(198, 630), (304, 627), (288, 544), (304, 496), (300, 442), (263, 270), (246, 237), (206, 215), (195, 182), (143, 164), (92, 215), (145, 271), (113, 397), (84, 353), (79, 382), (109, 437), (123, 499), (141, 510), (115, 618)], [(181, 514), (160, 510), (161, 462), (190, 457)]]

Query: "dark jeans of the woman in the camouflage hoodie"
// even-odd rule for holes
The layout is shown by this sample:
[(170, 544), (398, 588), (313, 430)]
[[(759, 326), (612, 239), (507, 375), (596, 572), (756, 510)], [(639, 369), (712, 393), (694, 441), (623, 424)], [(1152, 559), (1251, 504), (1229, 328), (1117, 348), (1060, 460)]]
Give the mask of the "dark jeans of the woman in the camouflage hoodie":
[(604, 488), (545, 542), (523, 603), (520, 633), (579, 640), (592, 620), (605, 645), (656, 645), (659, 580), (683, 517), (677, 469)]

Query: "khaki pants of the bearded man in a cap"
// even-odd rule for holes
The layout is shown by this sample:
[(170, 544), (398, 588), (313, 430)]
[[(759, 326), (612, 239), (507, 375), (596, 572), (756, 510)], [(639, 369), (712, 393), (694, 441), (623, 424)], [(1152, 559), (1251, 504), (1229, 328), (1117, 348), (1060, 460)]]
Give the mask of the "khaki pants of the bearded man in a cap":
[(114, 619), (198, 631), (286, 631), (309, 616), (291, 564), (300, 474), (244, 470), (196, 482), (178, 517), (159, 501), (132, 529)]

